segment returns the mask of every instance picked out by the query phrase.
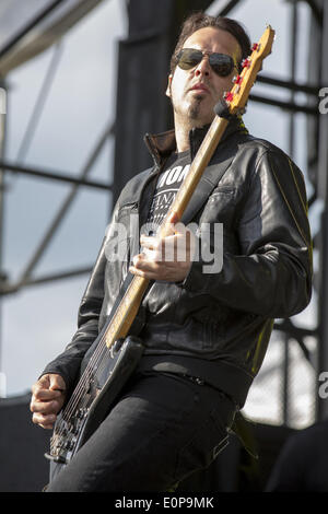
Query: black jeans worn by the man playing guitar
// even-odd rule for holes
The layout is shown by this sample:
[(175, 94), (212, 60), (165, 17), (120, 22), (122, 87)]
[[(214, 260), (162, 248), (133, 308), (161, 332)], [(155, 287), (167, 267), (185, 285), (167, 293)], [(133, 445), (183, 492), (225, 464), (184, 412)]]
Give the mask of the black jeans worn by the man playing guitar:
[(225, 447), (234, 413), (234, 402), (208, 385), (138, 375), (47, 492), (172, 490)]

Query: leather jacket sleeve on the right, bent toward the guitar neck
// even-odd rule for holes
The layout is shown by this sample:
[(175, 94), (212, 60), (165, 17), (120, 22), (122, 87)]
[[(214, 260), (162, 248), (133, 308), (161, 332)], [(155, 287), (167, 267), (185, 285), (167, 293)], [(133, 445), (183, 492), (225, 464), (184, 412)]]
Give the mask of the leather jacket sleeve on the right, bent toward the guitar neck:
[[(267, 150), (244, 190), (235, 231), (238, 254), (224, 242), (220, 272), (203, 273), (192, 262), (183, 287), (220, 303), (265, 317), (289, 317), (312, 294), (312, 242), (300, 170), (282, 152)], [(220, 249), (219, 249), (220, 250)]]

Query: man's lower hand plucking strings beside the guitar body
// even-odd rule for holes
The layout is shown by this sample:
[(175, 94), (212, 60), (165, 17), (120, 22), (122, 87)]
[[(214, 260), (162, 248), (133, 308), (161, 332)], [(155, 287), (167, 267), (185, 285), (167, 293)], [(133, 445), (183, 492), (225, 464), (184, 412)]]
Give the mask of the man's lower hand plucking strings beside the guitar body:
[(43, 375), (32, 386), (30, 409), (32, 421), (43, 429), (52, 429), (57, 414), (63, 406), (66, 383), (55, 373)]

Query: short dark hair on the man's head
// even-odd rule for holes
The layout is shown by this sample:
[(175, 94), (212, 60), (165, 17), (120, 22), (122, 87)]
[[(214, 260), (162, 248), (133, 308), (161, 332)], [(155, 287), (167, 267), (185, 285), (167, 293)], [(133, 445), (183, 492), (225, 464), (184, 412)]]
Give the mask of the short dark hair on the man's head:
[[(199, 31), (200, 28), (206, 28), (206, 27), (220, 28), (221, 31), (225, 31), (232, 34), (235, 37), (235, 39), (238, 42), (241, 50), (242, 50), (241, 62), (243, 59), (245, 59), (246, 57), (250, 55), (251, 52), (250, 39), (248, 35), (246, 34), (244, 27), (238, 22), (236, 22), (235, 20), (232, 20), (231, 17), (210, 16), (209, 14), (206, 14), (203, 12), (196, 12), (194, 14), (190, 14), (190, 16), (188, 16), (185, 20), (181, 26), (181, 32), (180, 32), (177, 45), (171, 58), (171, 73), (174, 73), (174, 70), (177, 65), (177, 55), (183, 48), (188, 37), (190, 37), (191, 34), (194, 34), (194, 32)], [(239, 68), (241, 68), (241, 62), (239, 62)]]

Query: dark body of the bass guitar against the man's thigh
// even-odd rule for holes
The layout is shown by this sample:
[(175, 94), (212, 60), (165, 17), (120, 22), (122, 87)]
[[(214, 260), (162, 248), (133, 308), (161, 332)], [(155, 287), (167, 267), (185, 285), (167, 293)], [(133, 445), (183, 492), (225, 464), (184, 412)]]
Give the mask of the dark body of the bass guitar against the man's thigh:
[[(50, 442), (52, 478), (72, 457), (105, 419), (118, 394), (136, 369), (143, 352), (140, 339), (129, 336), (117, 341), (103, 360), (101, 370), (79, 383), (79, 397), (73, 406), (57, 418)], [(81, 381), (80, 381), (81, 382)]]

